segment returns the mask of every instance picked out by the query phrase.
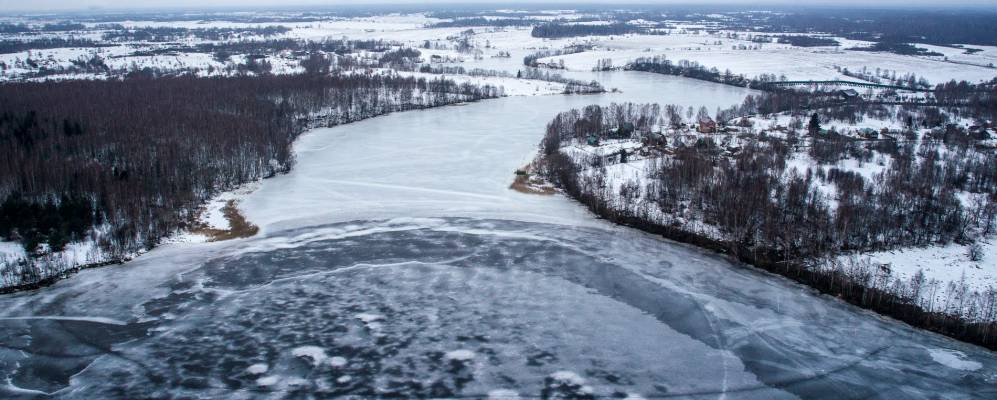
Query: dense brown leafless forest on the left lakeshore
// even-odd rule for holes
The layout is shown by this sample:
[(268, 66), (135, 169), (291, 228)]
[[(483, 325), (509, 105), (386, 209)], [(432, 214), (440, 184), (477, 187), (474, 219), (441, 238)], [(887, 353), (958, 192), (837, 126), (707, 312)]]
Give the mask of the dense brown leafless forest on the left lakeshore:
[[(183, 229), (219, 191), (287, 171), (308, 127), (497, 95), (366, 74), (3, 84), (0, 234), (29, 252), (86, 238), (117, 257)], [(46, 275), (23, 273), (5, 281)]]

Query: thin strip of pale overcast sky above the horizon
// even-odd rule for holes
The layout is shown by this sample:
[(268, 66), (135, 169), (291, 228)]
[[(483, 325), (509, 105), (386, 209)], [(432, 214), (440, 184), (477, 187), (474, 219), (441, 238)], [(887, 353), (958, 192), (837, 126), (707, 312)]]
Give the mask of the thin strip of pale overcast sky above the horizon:
[(3, 11), (55, 11), (55, 10), (82, 10), (87, 8), (105, 9), (142, 9), (142, 8), (204, 8), (204, 7), (259, 7), (259, 6), (316, 6), (316, 5), (343, 5), (343, 4), (425, 4), (425, 3), (660, 3), (660, 4), (739, 4), (739, 5), (762, 5), (762, 4), (782, 4), (782, 5), (858, 5), (858, 6), (953, 6), (953, 5), (975, 5), (992, 6), (997, 9), (997, 0), (0, 0), (0, 10)]

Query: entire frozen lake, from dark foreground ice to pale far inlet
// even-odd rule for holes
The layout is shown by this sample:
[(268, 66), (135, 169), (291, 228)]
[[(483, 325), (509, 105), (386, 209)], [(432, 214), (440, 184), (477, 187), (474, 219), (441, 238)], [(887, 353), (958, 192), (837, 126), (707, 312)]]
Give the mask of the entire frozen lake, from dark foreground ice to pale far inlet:
[(747, 93), (577, 75), (623, 93), (315, 130), (242, 202), (257, 237), (0, 297), (0, 395), (997, 396), (989, 351), (509, 190), (557, 112)]

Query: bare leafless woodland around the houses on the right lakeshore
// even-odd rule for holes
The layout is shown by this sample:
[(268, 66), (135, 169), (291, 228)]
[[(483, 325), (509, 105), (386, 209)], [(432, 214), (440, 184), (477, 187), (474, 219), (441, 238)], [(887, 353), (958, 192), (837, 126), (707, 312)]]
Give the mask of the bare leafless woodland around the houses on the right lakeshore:
[[(737, 108), (758, 113), (759, 100), (772, 99), (762, 95)], [(729, 253), (856, 304), (997, 346), (997, 293), (939, 287), (923, 276), (890, 280), (876, 266), (837, 261), (856, 252), (966, 244), (997, 233), (997, 154), (976, 146), (989, 139), (986, 131), (951, 124), (946, 115), (955, 109), (798, 106), (775, 107), (799, 113), (784, 137), (661, 133), (684, 124), (682, 108), (674, 106), (571, 110), (548, 124), (538, 170), (610, 220)], [(700, 114), (708, 116), (705, 109)], [(822, 121), (863, 115), (891, 116), (906, 128), (875, 139), (821, 129)], [(918, 131), (927, 133), (919, 137)], [(626, 152), (607, 159), (562, 151), (593, 137), (666, 144), (667, 150), (645, 164), (645, 179), (610, 184), (603, 166), (626, 163)], [(814, 164), (790, 170), (788, 160), (799, 152)], [(872, 163), (882, 157), (891, 162), (872, 177), (836, 167), (844, 159)], [(833, 201), (823, 195), (827, 187)], [(936, 292), (947, 297), (936, 299)]]

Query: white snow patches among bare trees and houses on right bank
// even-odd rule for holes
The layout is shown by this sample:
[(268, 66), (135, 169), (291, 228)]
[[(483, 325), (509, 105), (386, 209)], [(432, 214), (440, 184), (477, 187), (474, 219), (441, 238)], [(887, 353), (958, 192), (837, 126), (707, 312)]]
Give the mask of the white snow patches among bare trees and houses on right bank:
[[(764, 117), (752, 116), (746, 119), (751, 122), (751, 127), (741, 128), (743, 130), (741, 133), (698, 134), (690, 130), (684, 132), (684, 136), (671, 137), (669, 140), (681, 139), (686, 143), (692, 143), (697, 138), (711, 138), (718, 143), (725, 144), (729, 148), (736, 148), (742, 142), (742, 138), (739, 135), (745, 133), (758, 135), (764, 132), (766, 135), (774, 137), (785, 137), (784, 131), (790, 125), (791, 116), (779, 114)], [(965, 117), (953, 116), (953, 123), (968, 126), (972, 121)], [(828, 130), (833, 129), (842, 135), (855, 138), (858, 138), (863, 130), (868, 129), (877, 133), (881, 129), (887, 129), (894, 132), (893, 134), (897, 137), (900, 137), (898, 132), (901, 130), (898, 121), (872, 117), (863, 118), (854, 124), (838, 120), (825, 121), (822, 126)], [(661, 129), (661, 127), (657, 129)], [(669, 130), (666, 128), (666, 130), (670, 131), (670, 134), (679, 133), (674, 132), (673, 129)], [(923, 135), (927, 135), (930, 131), (930, 129), (920, 129), (917, 133), (923, 137)], [(587, 159), (588, 157), (600, 157), (604, 159), (610, 157), (608, 158), (609, 160), (616, 160), (612, 156), (618, 154), (620, 150), (626, 150), (629, 154), (626, 163), (607, 161), (599, 167), (586, 167), (582, 172), (582, 176), (603, 178), (605, 180), (606, 192), (613, 194), (611, 200), (614, 207), (621, 209), (639, 207), (641, 212), (648, 213), (647, 218), (652, 221), (663, 224), (677, 221), (683, 224), (684, 229), (689, 229), (708, 237), (720, 238), (721, 236), (716, 227), (703, 223), (695, 216), (666, 215), (658, 207), (645, 199), (647, 193), (644, 188), (653, 181), (654, 168), (657, 168), (657, 164), (654, 162), (655, 158), (662, 157), (662, 154), (652, 153), (646, 156), (642, 155), (641, 152), (646, 150), (643, 147), (637, 140), (610, 139), (601, 141), (598, 146), (590, 146), (585, 143), (570, 143), (562, 146), (561, 151), (580, 160)], [(946, 149), (942, 147), (940, 151), (944, 153)], [(826, 176), (832, 169), (838, 169), (857, 173), (867, 181), (873, 181), (878, 175), (889, 168), (891, 162), (892, 159), (889, 155), (877, 152), (873, 159), (868, 162), (854, 158), (844, 158), (834, 163), (822, 165), (811, 158), (804, 148), (802, 151), (793, 152), (791, 157), (786, 160), (786, 173), (795, 173), (803, 176), (807, 174), (808, 170), (811, 172), (823, 170), (823, 175)], [(626, 185), (631, 185), (634, 188), (634, 191), (632, 191), (634, 197), (626, 198), (620, 194)], [(838, 204), (837, 186), (820, 179), (817, 179), (814, 185), (830, 207), (832, 209), (836, 208)], [(960, 192), (956, 193), (956, 196), (962, 201), (964, 207), (969, 208), (973, 206), (972, 202), (975, 197), (983, 195)], [(921, 293), (922, 297), (925, 300), (929, 298), (933, 299), (933, 304), (941, 305), (948, 304), (948, 297), (954, 296), (962, 290), (966, 290), (969, 293), (985, 293), (988, 290), (997, 290), (997, 261), (995, 261), (997, 260), (997, 245), (994, 245), (995, 241), (997, 241), (997, 237), (994, 236), (979, 238), (982, 259), (976, 261), (972, 260), (969, 256), (969, 245), (953, 243), (926, 248), (850, 253), (841, 256), (838, 262), (847, 264), (858, 261), (877, 267), (883, 266), (883, 271), (889, 271), (888, 278), (891, 282), (897, 279), (907, 282), (915, 274), (921, 273), (926, 284), (934, 282), (930, 285), (933, 289), (923, 291)]]

